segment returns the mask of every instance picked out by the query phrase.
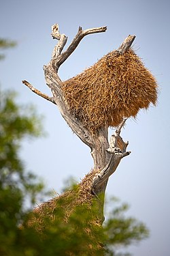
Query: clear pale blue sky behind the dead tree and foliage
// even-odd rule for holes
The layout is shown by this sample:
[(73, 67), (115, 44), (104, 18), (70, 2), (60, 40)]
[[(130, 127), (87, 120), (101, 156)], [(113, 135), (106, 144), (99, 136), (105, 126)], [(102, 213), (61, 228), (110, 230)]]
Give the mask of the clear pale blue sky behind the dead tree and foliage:
[(158, 106), (129, 119), (122, 132), (129, 140), (131, 155), (124, 158), (109, 179), (107, 195), (130, 203), (129, 214), (146, 223), (150, 238), (131, 246), (133, 255), (170, 255), (169, 205), (169, 0), (24, 1), (0, 0), (0, 36), (16, 40), (1, 61), (3, 89), (18, 91), (20, 104), (35, 104), (44, 115), (48, 137), (24, 141), (21, 152), (27, 169), (44, 178), (48, 188), (61, 191), (63, 180), (78, 180), (92, 168), (90, 150), (62, 119), (54, 104), (39, 98), (22, 85), (22, 80), (50, 95), (43, 66), (50, 60), (55, 41), (51, 26), (58, 23), (69, 42), (78, 27), (107, 26), (105, 33), (88, 35), (60, 69), (61, 79), (81, 72), (97, 59), (117, 48), (129, 34), (135, 34), (133, 48), (156, 77), (160, 87)]

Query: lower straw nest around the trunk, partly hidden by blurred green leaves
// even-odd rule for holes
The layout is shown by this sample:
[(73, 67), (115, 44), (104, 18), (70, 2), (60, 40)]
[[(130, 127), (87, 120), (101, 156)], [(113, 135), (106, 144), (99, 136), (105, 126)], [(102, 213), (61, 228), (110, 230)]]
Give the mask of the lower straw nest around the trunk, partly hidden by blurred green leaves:
[[(76, 206), (86, 204), (87, 208), (90, 210), (92, 201), (95, 199), (95, 195), (92, 193), (92, 179), (98, 172), (99, 170), (90, 171), (75, 189), (68, 190), (63, 194), (38, 205), (37, 208), (33, 210), (27, 225), (29, 225), (29, 227), (34, 227), (41, 233), (46, 229), (48, 223), (46, 221), (47, 219), (54, 221), (56, 218), (61, 218), (61, 214), (58, 214), (61, 210), (64, 212), (62, 221), (65, 221), (66, 223)], [(100, 222), (100, 216), (97, 216), (92, 225), (100, 225)]]

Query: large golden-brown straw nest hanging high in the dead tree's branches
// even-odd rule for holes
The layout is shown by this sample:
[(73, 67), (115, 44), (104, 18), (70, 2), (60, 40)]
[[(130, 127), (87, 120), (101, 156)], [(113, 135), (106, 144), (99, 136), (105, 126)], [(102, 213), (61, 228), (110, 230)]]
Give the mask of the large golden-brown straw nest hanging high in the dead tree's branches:
[(157, 99), (156, 80), (132, 49), (108, 53), (64, 81), (62, 89), (71, 115), (91, 132), (101, 126), (116, 127)]

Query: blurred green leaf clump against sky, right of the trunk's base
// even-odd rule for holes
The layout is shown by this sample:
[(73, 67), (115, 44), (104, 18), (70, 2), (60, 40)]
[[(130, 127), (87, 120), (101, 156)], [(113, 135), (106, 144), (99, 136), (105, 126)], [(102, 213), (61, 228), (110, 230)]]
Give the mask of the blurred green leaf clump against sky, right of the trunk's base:
[(126, 255), (116, 254), (115, 249), (124, 248), (134, 242), (148, 238), (149, 231), (142, 222), (125, 215), (129, 209), (128, 204), (116, 205), (119, 201), (116, 198), (113, 201), (115, 208), (109, 212), (109, 218), (105, 221), (104, 225), (105, 232), (107, 233), (107, 246), (112, 248), (113, 255)]

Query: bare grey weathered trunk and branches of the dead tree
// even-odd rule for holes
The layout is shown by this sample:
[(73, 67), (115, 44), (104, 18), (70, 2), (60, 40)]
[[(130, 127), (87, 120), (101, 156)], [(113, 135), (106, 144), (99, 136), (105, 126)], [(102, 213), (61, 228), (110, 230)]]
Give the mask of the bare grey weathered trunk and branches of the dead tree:
[[(24, 85), (27, 85), (35, 94), (49, 100), (50, 102), (58, 106), (61, 115), (71, 127), (73, 132), (78, 135), (78, 137), (90, 147), (92, 158), (94, 160), (94, 169), (99, 170), (99, 173), (95, 175), (92, 181), (92, 191), (98, 195), (99, 193), (105, 193), (105, 188), (107, 186), (107, 181), (109, 176), (116, 171), (120, 160), (124, 156), (129, 155), (131, 152), (126, 152), (126, 147), (128, 143), (124, 143), (120, 137), (120, 131), (124, 125), (124, 120), (120, 127), (112, 135), (110, 141), (108, 141), (108, 127), (102, 127), (98, 130), (98, 134), (92, 134), (90, 130), (84, 127), (80, 120), (75, 119), (71, 113), (69, 113), (69, 108), (67, 102), (63, 96), (63, 91), (61, 89), (61, 79), (58, 76), (58, 68), (61, 64), (73, 53), (75, 48), (78, 46), (84, 36), (92, 33), (105, 32), (107, 27), (99, 27), (94, 29), (82, 30), (79, 27), (77, 35), (67, 48), (67, 50), (62, 53), (63, 48), (67, 42), (67, 37), (65, 34), (61, 34), (58, 29), (58, 25), (52, 26), (52, 38), (58, 40), (58, 44), (54, 47), (52, 53), (52, 59), (47, 66), (44, 66), (44, 74), (46, 78), (46, 84), (50, 87), (52, 91), (52, 97), (41, 93), (33, 87), (27, 81), (22, 81)], [(129, 51), (131, 44), (135, 40), (135, 35), (129, 35), (124, 42), (118, 48), (118, 53), (123, 54)]]

